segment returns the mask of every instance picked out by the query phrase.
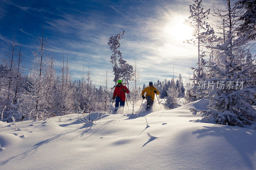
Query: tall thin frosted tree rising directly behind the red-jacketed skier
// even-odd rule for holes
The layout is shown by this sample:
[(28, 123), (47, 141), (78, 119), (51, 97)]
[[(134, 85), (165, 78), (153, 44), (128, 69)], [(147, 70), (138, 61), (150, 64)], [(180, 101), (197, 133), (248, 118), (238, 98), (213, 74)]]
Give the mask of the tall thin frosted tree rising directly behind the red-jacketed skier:
[(121, 58), (122, 59), (122, 53), (120, 52), (120, 50), (117, 50), (117, 48), (120, 47), (120, 42), (119, 40), (122, 38), (122, 36), (124, 35), (124, 31), (122, 31), (121, 33), (113, 36), (111, 35), (111, 37), (108, 40), (108, 45), (110, 46), (110, 50), (112, 55), (110, 56), (110, 63), (112, 63), (113, 66), (113, 72), (114, 72), (114, 82), (116, 83), (118, 81), (118, 79), (121, 76), (121, 72), (122, 69), (120, 67), (118, 67), (118, 60)]

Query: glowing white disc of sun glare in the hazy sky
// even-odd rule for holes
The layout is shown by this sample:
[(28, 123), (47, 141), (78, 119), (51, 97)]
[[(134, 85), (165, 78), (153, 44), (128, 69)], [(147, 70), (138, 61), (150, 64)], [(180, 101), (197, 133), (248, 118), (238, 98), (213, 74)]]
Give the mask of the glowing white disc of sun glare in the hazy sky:
[(192, 39), (193, 29), (184, 24), (185, 18), (175, 17), (167, 25), (164, 26), (164, 32), (171, 41), (183, 42)]

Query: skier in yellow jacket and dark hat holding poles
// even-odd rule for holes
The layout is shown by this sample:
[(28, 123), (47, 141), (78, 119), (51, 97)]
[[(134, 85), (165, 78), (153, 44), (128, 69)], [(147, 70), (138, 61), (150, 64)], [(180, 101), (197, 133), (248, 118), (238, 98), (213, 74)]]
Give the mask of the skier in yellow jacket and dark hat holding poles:
[[(144, 93), (146, 92), (146, 97), (144, 96)], [(155, 93), (159, 94), (160, 92), (156, 89), (156, 87), (153, 86), (153, 82), (149, 82), (149, 86), (142, 90), (141, 95), (142, 98), (147, 100), (147, 108), (152, 107), (155, 99)]]

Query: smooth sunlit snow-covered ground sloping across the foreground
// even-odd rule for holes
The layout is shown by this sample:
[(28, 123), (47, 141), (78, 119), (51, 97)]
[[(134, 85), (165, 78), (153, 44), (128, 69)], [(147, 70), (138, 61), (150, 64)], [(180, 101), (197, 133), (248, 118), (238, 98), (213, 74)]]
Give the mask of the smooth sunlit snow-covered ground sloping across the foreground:
[(17, 122), (16, 131), (0, 122), (0, 169), (256, 169), (256, 131), (198, 122), (188, 109), (206, 105), (104, 115), (94, 125), (77, 114)]

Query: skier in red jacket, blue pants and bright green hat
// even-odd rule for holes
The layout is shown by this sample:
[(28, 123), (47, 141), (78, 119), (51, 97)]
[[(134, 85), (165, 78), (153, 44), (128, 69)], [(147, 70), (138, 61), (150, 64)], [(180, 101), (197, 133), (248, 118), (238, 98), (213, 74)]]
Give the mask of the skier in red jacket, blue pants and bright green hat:
[[(119, 103), (120, 103), (120, 107), (123, 106), (124, 107), (124, 102), (125, 102), (125, 92), (127, 94), (129, 94), (129, 90), (127, 89), (127, 87), (125, 85), (122, 84), (121, 80), (118, 80), (117, 82), (118, 84), (115, 87), (114, 90), (114, 94), (113, 94), (113, 100), (116, 99), (116, 106), (115, 109), (117, 110), (119, 107)], [(115, 111), (116, 111), (115, 110)]]

